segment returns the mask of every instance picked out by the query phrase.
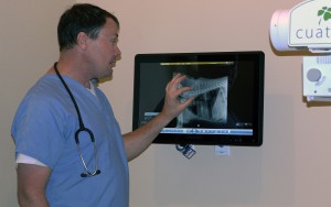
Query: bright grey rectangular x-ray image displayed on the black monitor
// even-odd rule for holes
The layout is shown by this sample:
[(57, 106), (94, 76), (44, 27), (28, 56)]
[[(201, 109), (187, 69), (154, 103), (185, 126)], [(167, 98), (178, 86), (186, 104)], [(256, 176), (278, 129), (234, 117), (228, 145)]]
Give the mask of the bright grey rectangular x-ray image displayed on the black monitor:
[(227, 76), (214, 79), (186, 76), (179, 87), (192, 88), (179, 96), (180, 101), (195, 98), (177, 117), (177, 128), (217, 127), (227, 122)]

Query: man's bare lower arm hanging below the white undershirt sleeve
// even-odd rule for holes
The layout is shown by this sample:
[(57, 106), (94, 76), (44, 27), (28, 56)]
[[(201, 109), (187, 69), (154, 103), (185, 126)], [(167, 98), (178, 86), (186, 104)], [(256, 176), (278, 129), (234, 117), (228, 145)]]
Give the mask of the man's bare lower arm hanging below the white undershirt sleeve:
[(20, 163), (17, 172), (20, 207), (49, 207), (45, 187), (51, 170), (46, 166)]

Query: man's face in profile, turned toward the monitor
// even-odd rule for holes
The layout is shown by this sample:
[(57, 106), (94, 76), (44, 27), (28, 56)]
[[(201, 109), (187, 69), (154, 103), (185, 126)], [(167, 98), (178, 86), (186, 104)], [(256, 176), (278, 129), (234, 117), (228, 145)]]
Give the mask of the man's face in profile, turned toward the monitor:
[(90, 41), (88, 48), (94, 78), (111, 78), (113, 67), (120, 57), (118, 43), (118, 26), (113, 19), (107, 19), (105, 26), (99, 31), (98, 37)]

